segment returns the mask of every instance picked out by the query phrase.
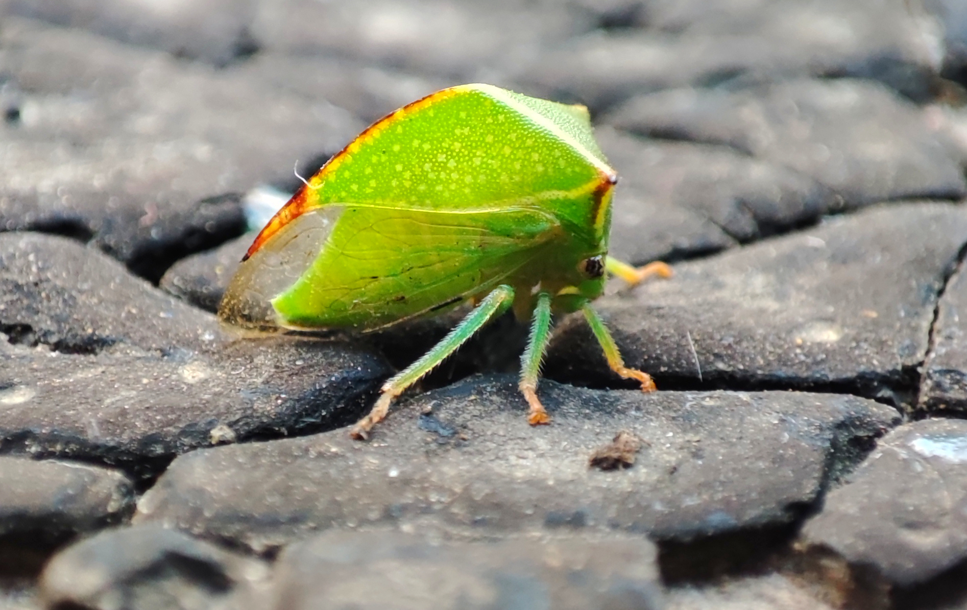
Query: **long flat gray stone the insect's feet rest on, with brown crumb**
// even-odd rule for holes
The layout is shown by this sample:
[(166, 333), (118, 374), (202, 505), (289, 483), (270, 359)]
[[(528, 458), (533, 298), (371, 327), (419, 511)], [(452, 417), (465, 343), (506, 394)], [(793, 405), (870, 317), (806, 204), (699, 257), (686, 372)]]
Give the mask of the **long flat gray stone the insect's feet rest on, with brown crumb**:
[[(180, 456), (136, 522), (265, 549), (331, 527), (489, 537), (627, 529), (689, 538), (785, 523), (896, 419), (863, 398), (796, 392), (600, 392), (544, 383), (532, 428), (511, 376), (417, 396), (370, 443), (345, 429)], [(591, 469), (626, 430), (631, 468)], [(284, 472), (284, 477), (278, 473)]]

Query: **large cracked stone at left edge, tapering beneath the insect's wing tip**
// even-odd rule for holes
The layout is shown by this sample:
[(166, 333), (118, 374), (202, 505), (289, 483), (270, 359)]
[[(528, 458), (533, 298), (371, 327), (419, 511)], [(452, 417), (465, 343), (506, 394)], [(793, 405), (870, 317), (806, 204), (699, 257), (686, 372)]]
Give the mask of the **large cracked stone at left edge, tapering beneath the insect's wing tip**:
[(233, 334), (59, 237), (0, 235), (0, 295), (4, 452), (151, 474), (196, 447), (351, 421), (390, 372), (366, 346)]

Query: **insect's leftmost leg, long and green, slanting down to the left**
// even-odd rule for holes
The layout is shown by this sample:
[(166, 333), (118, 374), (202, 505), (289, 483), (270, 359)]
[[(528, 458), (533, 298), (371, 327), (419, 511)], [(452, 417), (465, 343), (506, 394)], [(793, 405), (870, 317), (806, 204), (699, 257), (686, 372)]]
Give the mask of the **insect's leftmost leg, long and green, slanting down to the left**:
[(420, 360), (410, 364), (403, 370), (396, 373), (383, 384), (382, 393), (376, 404), (373, 405), (369, 414), (356, 424), (349, 431), (354, 439), (366, 440), (369, 437), (369, 430), (376, 423), (383, 421), (386, 414), (390, 411), (390, 403), (404, 390), (415, 384), (426, 373), (433, 370), (437, 364), (442, 363), (448, 356), (453, 354), (460, 345), (479, 331), (487, 321), (507, 310), (513, 303), (513, 288), (507, 285), (500, 285), (484, 297), (480, 305), (467, 314), (467, 317), (456, 325), (453, 331), (426, 352)]

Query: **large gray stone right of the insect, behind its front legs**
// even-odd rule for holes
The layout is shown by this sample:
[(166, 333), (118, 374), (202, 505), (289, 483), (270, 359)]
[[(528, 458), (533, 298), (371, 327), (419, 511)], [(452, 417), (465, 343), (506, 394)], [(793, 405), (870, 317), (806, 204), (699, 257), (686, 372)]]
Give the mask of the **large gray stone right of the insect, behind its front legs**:
[[(908, 403), (965, 235), (959, 207), (887, 205), (677, 265), (670, 280), (595, 307), (626, 362), (659, 382), (835, 389)], [(611, 379), (576, 316), (562, 324), (545, 369), (560, 380)]]

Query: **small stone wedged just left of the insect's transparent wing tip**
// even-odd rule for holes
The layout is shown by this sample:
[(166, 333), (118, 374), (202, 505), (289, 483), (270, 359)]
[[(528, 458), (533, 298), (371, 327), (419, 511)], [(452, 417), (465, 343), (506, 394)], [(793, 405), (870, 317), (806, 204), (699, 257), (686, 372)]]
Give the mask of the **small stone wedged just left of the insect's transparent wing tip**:
[(218, 311), (221, 295), (254, 239), (254, 233), (246, 233), (220, 247), (183, 258), (164, 273), (159, 286), (191, 305)]

